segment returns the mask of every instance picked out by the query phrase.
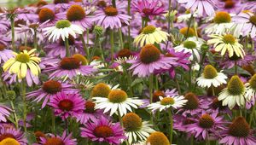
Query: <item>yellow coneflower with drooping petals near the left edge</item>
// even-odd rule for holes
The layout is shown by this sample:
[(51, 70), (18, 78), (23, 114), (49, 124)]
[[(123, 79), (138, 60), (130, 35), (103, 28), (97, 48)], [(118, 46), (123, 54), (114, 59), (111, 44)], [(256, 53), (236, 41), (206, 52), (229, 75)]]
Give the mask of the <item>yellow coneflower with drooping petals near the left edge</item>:
[(28, 70), (35, 76), (41, 73), (38, 63), (41, 61), (38, 56), (34, 54), (36, 49), (30, 51), (24, 50), (17, 54), (14, 52), (15, 57), (10, 58), (3, 64), (3, 71), (17, 74), (19, 79), (26, 78)]

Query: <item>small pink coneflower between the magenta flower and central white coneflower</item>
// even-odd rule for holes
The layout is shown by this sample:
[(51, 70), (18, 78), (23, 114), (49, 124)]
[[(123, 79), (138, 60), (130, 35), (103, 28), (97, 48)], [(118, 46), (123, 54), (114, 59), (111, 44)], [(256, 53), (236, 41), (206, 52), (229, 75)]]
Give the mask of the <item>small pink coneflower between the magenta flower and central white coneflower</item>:
[(89, 120), (95, 121), (96, 119), (100, 119), (101, 116), (104, 116), (103, 111), (101, 109), (95, 108), (96, 104), (91, 101), (85, 102), (84, 113), (79, 113), (77, 121), (81, 124), (86, 124)]

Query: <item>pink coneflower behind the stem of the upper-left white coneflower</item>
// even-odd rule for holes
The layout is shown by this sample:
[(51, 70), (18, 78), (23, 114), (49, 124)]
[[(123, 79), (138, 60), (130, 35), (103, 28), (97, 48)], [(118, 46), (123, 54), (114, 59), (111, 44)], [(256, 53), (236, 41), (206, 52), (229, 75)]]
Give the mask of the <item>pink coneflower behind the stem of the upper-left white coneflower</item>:
[[(71, 54), (84, 54), (84, 48), (81, 41), (75, 40), (71, 35), (68, 37), (69, 51)], [(60, 38), (59, 43), (48, 44), (44, 46), (47, 56), (64, 58), (66, 56), (65, 42)]]

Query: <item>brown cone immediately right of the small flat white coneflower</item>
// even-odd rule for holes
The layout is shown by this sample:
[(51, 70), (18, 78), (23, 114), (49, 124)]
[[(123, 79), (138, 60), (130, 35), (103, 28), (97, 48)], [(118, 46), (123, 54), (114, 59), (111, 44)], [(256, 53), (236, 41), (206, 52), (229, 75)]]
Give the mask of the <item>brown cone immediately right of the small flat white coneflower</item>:
[(185, 99), (188, 100), (186, 102), (186, 105), (184, 106), (187, 110), (193, 110), (196, 109), (199, 106), (199, 99), (197, 96), (195, 96), (194, 93), (189, 92), (185, 95)]

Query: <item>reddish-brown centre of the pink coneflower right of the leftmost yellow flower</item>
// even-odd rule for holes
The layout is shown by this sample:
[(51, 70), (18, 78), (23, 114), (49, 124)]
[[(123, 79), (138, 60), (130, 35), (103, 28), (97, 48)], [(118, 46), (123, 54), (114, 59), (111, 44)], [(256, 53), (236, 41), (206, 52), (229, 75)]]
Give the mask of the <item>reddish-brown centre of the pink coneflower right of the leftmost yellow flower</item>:
[(66, 70), (77, 69), (80, 67), (80, 61), (77, 58), (65, 57), (61, 60), (60, 67)]

